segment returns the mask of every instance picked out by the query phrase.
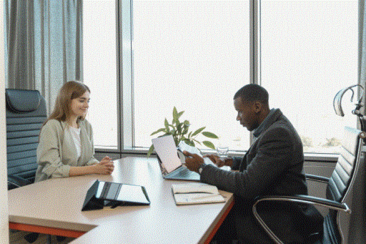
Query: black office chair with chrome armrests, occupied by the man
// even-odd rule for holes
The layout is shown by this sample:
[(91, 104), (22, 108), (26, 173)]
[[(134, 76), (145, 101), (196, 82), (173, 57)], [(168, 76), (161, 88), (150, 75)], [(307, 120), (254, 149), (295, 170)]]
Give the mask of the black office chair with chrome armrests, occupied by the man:
[[(344, 116), (341, 100), (342, 96), (350, 90), (352, 87), (359, 85), (350, 86), (340, 90), (333, 100), (333, 106), (335, 113), (340, 116)], [(363, 87), (361, 87), (363, 89)], [(351, 89), (352, 90), (352, 89)], [(354, 94), (353, 90), (352, 93)], [(353, 97), (353, 95), (352, 95)], [(304, 203), (311, 205), (323, 206), (329, 209), (328, 214), (324, 218), (323, 222), (323, 233), (312, 233), (306, 243), (316, 244), (339, 244), (347, 243), (348, 239), (348, 227), (344, 224), (340, 224), (342, 221), (343, 212), (347, 214), (351, 213), (350, 208), (346, 204), (346, 199), (350, 198), (350, 194), (354, 187), (358, 176), (363, 175), (362, 167), (363, 159), (361, 159), (362, 147), (365, 143), (366, 133), (364, 132), (365, 120), (364, 116), (360, 113), (359, 109), (362, 106), (361, 99), (356, 103), (356, 109), (352, 111), (353, 114), (357, 115), (360, 119), (362, 131), (345, 127), (344, 138), (342, 141), (342, 148), (338, 162), (335, 165), (333, 173), (329, 178), (317, 176), (317, 175), (306, 175), (307, 180), (314, 180), (318, 182), (326, 183), (326, 199), (317, 198), (306, 195), (296, 196), (261, 196), (256, 199), (253, 205), (253, 214), (257, 219), (258, 223), (263, 227), (266, 233), (276, 242), (283, 243), (278, 236), (266, 225), (263, 219), (258, 214), (258, 203), (263, 201), (287, 201)], [(363, 179), (364, 180), (364, 179)], [(279, 223), (281, 224), (281, 223)], [(345, 229), (342, 229), (345, 228)], [(347, 228), (346, 228), (347, 227)]]

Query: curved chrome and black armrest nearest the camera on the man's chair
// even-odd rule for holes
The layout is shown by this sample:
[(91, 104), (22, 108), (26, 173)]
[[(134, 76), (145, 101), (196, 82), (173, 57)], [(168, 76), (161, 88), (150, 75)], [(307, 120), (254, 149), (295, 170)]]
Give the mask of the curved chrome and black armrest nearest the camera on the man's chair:
[(336, 201), (313, 197), (308, 195), (295, 195), (295, 196), (261, 196), (256, 198), (256, 201), (253, 205), (253, 214), (254, 217), (257, 219), (258, 223), (263, 227), (263, 229), (267, 232), (267, 234), (278, 244), (283, 244), (280, 238), (277, 237), (275, 233), (265, 224), (262, 218), (259, 216), (257, 212), (257, 204), (261, 201), (289, 201), (289, 202), (296, 202), (296, 203), (305, 203), (311, 205), (319, 205), (325, 206), (334, 210), (342, 210), (345, 212), (350, 213), (351, 210), (347, 206), (346, 203), (339, 203)]

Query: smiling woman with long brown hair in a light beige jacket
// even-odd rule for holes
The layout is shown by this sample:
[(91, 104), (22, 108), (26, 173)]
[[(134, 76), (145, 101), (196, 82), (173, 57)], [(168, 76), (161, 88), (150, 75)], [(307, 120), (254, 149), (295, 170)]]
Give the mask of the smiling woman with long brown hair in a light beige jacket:
[(54, 110), (41, 129), (35, 182), (51, 177), (112, 173), (114, 166), (108, 156), (101, 162), (94, 158), (93, 130), (85, 119), (89, 96), (89, 88), (78, 81), (61, 87)]

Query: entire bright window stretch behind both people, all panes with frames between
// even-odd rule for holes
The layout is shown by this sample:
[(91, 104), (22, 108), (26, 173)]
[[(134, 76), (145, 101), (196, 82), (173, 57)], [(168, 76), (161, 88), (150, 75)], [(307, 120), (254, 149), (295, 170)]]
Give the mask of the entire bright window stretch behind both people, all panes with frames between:
[(221, 138), (214, 143), (246, 150), (233, 95), (251, 81), (268, 90), (306, 152), (336, 153), (336, 132), (356, 126), (332, 107), (338, 90), (357, 83), (355, 0), (88, 0), (83, 8), (97, 148), (145, 151), (175, 106), (191, 130), (206, 126)]

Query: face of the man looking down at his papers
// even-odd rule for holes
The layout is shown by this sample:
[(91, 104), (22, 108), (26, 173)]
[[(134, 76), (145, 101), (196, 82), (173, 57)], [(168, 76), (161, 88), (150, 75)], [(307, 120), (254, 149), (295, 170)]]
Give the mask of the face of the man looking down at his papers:
[(258, 128), (258, 106), (256, 102), (243, 102), (241, 97), (234, 100), (234, 107), (237, 111), (236, 120), (240, 121), (240, 125), (246, 127), (248, 131)]

